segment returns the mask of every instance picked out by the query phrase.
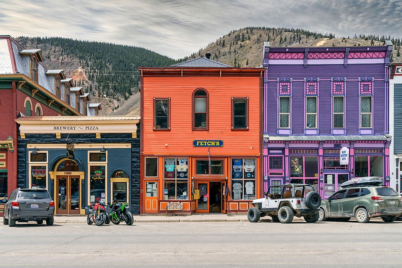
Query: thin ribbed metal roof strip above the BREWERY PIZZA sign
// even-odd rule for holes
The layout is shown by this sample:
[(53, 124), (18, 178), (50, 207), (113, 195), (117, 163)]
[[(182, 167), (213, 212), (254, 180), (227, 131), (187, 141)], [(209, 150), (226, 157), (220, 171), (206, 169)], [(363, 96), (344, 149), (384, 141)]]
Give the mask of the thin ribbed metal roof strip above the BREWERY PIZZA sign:
[(102, 120), (139, 120), (134, 115), (114, 116), (55, 116), (55, 117), (19, 117), (16, 121), (102, 121)]

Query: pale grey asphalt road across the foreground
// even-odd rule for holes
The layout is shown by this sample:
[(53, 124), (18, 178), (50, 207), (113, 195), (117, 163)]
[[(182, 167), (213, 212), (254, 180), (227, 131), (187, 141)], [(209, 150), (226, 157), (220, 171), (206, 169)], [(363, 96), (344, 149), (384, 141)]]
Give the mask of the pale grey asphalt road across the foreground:
[(402, 267), (402, 222), (0, 228), (0, 267)]

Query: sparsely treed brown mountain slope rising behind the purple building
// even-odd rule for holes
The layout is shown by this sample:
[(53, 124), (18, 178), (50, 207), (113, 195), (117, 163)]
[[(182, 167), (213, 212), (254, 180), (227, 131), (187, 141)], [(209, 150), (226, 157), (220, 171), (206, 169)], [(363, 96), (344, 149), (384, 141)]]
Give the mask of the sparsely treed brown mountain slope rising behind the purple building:
[[(230, 31), (207, 47), (183, 60), (193, 59), (206, 52), (211, 53), (211, 59), (236, 67), (256, 67), (262, 64), (263, 42), (269, 41), (271, 47), (339, 47), (339, 46), (365, 46), (382, 45), (385, 39), (375, 35), (355, 35), (353, 37), (335, 38), (332, 33), (316, 33), (303, 29), (246, 27), (240, 30)], [(398, 52), (401, 39), (392, 37), (394, 51), (392, 59), (402, 61)]]

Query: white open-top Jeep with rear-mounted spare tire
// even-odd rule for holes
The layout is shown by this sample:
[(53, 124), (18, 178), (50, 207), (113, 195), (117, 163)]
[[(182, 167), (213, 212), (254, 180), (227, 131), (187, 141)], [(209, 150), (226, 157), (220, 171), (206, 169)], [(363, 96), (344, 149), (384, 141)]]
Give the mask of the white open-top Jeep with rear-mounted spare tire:
[(265, 196), (252, 202), (254, 207), (247, 211), (248, 221), (255, 223), (264, 216), (281, 223), (290, 223), (294, 216), (303, 216), (308, 223), (318, 221), (321, 196), (311, 184), (269, 186)]

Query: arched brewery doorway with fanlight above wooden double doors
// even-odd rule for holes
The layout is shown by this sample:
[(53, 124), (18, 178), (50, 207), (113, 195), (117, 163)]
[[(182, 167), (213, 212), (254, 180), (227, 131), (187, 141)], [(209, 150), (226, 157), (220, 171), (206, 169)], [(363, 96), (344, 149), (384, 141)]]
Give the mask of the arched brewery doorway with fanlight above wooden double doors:
[(55, 168), (57, 214), (80, 214), (81, 172), (74, 160), (60, 160)]

